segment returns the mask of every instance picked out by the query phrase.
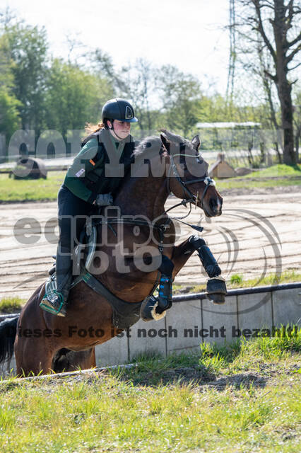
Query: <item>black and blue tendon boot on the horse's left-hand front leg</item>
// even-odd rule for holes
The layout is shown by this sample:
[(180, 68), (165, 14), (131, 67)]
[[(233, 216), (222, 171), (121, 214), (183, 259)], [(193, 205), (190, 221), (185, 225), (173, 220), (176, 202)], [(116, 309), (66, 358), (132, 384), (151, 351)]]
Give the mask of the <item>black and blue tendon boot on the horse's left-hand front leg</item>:
[(174, 264), (167, 258), (162, 256), (162, 263), (160, 265), (161, 278), (159, 282), (159, 294), (158, 294), (158, 309), (164, 311), (170, 309), (172, 306), (172, 270)]

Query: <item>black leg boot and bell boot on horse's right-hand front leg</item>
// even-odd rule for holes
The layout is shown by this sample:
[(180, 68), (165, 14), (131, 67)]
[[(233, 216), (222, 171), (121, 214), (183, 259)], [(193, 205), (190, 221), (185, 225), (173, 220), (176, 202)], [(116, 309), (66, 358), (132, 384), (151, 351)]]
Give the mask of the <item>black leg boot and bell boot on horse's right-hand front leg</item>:
[(225, 294), (227, 294), (227, 287), (225, 280), (220, 276), (222, 271), (216, 258), (214, 258), (210, 248), (206, 246), (206, 242), (199, 236), (191, 236), (189, 242), (197, 251), (203, 268), (206, 270), (208, 277), (210, 277), (207, 281), (208, 299), (211, 299), (213, 304), (223, 304), (225, 302)]

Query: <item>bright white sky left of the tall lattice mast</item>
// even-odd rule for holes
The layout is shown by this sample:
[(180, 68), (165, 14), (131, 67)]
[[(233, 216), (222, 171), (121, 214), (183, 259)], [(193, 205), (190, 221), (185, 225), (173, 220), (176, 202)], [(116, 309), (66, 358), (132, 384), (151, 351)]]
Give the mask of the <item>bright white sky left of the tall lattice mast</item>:
[(66, 36), (100, 47), (117, 68), (138, 57), (173, 64), (225, 94), (228, 0), (2, 0), (18, 18), (45, 26), (50, 52), (68, 57)]

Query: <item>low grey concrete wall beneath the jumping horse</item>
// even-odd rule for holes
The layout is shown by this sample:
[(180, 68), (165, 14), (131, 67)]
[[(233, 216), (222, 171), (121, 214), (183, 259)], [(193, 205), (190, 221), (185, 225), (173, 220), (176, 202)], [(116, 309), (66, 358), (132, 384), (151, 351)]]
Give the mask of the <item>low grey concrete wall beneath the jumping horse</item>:
[[(301, 282), (275, 287), (230, 290), (223, 305), (214, 305), (206, 294), (185, 294), (173, 299), (172, 309), (160, 321), (138, 321), (128, 331), (96, 350), (99, 367), (131, 362), (146, 352), (163, 357), (175, 352), (199, 351), (200, 343), (231, 343), (242, 334), (256, 336), (265, 328), (275, 336), (278, 326), (300, 325)], [(4, 365), (3, 374), (13, 367)]]

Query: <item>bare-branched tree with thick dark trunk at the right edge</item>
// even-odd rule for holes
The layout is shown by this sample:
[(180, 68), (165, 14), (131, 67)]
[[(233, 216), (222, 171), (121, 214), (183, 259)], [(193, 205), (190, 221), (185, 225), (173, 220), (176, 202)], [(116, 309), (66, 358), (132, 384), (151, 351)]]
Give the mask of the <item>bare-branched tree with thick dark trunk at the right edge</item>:
[(237, 30), (244, 40), (256, 45), (262, 42), (271, 55), (272, 67), (265, 68), (264, 74), (275, 84), (281, 106), (283, 162), (295, 164), (291, 94), (294, 81), (290, 80), (289, 72), (300, 65), (293, 62), (301, 50), (301, 33), (297, 28), (301, 8), (295, 5), (294, 0), (238, 1), (242, 11), (236, 24)]

